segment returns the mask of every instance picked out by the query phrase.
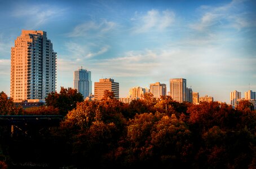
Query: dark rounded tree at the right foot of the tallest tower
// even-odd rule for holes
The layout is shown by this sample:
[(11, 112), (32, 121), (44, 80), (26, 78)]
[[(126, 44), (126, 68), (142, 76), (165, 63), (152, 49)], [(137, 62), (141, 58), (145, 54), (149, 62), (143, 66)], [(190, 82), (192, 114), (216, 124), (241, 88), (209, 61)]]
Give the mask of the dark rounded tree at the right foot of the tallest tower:
[(60, 93), (51, 92), (45, 99), (47, 106), (54, 106), (60, 110), (61, 115), (66, 115), (69, 110), (76, 108), (78, 102), (83, 101), (83, 96), (76, 89), (60, 88)]

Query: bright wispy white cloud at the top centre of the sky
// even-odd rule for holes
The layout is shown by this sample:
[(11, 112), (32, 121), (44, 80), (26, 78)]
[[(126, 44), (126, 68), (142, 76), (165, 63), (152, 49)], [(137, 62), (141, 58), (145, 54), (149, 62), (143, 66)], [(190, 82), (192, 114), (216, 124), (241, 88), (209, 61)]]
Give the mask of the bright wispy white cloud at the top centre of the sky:
[(169, 10), (151, 10), (145, 15), (138, 15), (138, 12), (135, 12), (135, 16), (131, 18), (134, 23), (133, 33), (144, 33), (153, 29), (164, 30), (170, 27), (174, 20), (175, 14)]

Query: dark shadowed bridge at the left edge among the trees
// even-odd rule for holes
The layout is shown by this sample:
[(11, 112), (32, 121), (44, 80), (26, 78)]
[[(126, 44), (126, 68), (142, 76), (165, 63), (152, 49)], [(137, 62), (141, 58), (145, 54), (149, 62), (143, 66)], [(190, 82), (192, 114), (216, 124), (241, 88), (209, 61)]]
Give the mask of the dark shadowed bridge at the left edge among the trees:
[(0, 126), (10, 127), (11, 137), (43, 134), (59, 126), (62, 115), (0, 115)]

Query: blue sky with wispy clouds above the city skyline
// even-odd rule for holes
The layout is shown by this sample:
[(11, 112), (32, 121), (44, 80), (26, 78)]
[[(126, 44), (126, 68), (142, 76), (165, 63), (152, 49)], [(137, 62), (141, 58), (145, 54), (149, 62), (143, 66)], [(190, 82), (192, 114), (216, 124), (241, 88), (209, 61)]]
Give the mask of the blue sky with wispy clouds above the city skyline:
[(10, 96), (11, 47), (21, 30), (43, 30), (57, 52), (57, 88), (73, 72), (131, 87), (187, 79), (200, 96), (229, 103), (256, 91), (255, 1), (0, 0), (0, 91)]

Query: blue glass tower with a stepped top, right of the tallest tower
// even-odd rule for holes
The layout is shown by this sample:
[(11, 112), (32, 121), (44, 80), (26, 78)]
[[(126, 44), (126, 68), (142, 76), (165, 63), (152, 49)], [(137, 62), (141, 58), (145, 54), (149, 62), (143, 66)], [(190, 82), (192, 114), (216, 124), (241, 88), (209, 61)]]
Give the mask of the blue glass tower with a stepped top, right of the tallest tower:
[(83, 95), (83, 99), (90, 96), (92, 83), (91, 71), (86, 69), (79, 69), (74, 71), (74, 88)]

